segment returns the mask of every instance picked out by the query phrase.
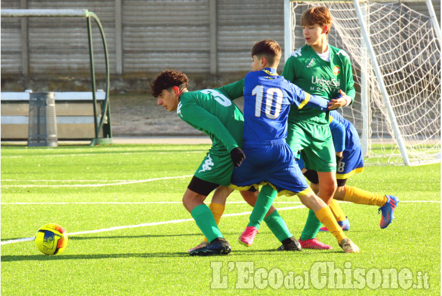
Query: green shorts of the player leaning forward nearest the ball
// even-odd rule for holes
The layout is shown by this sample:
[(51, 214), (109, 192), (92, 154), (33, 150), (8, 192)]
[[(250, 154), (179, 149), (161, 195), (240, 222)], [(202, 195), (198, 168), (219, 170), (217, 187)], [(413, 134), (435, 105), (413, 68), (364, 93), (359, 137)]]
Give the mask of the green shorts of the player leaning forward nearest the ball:
[(230, 185), (233, 169), (232, 159), (228, 151), (226, 153), (209, 151), (203, 162), (198, 166), (194, 176), (207, 182), (228, 186)]

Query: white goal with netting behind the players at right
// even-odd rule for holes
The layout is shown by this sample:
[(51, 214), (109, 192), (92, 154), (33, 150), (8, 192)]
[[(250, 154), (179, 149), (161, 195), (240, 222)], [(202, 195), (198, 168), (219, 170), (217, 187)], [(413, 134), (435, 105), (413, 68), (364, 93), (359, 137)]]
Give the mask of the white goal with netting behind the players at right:
[(351, 1), (286, 5), (285, 45), (290, 52), (305, 44), (303, 11), (311, 6), (331, 11), (329, 43), (349, 54), (356, 88), (354, 104), (340, 111), (356, 126), (364, 156), (376, 156), (379, 164), (440, 162), (441, 40), (429, 13), (404, 3), (364, 1), (358, 8), (361, 26)]

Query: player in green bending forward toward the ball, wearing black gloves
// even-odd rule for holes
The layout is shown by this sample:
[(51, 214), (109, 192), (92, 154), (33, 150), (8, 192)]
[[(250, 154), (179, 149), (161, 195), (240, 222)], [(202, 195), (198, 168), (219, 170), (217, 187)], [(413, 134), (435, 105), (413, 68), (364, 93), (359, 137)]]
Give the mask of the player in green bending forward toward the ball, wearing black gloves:
[[(165, 70), (151, 84), (151, 92), (160, 106), (177, 115), (192, 127), (207, 134), (212, 139), (212, 147), (200, 164), (183, 196), (184, 207), (194, 217), (203, 232), (207, 245), (189, 251), (191, 256), (228, 254), (230, 245), (223, 239), (217, 226), (223, 214), (226, 198), (232, 192), (230, 177), (234, 166), (244, 160), (240, 147), (243, 143), (244, 117), (230, 99), (243, 95), (244, 82), (229, 84), (216, 89), (189, 92), (188, 79), (182, 72)], [(221, 186), (220, 186), (221, 185)], [(216, 189), (210, 207), (204, 200)], [(269, 187), (267, 191), (272, 194)], [(266, 189), (262, 192), (265, 194)], [(258, 192), (242, 192), (244, 200), (252, 206)], [(265, 219), (267, 226), (281, 242), (294, 242), (282, 217), (271, 208)]]

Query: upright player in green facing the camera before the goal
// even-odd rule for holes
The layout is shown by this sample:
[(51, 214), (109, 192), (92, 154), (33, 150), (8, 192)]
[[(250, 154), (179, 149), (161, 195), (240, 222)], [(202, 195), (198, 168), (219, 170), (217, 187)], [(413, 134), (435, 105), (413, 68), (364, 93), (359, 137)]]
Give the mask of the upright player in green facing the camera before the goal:
[[(306, 45), (287, 59), (283, 77), (313, 95), (329, 98), (334, 107), (352, 104), (356, 91), (349, 57), (342, 50), (329, 45), (332, 17), (324, 6), (306, 10), (301, 26)], [(342, 95), (338, 99), (338, 95)], [(329, 112), (311, 108), (292, 108), (288, 118), (287, 143), (303, 157), (307, 169), (318, 172), (318, 196), (327, 205), (336, 192), (336, 156), (329, 128)], [(299, 241), (306, 249), (331, 249), (315, 237), (321, 223), (309, 211), (306, 226)]]

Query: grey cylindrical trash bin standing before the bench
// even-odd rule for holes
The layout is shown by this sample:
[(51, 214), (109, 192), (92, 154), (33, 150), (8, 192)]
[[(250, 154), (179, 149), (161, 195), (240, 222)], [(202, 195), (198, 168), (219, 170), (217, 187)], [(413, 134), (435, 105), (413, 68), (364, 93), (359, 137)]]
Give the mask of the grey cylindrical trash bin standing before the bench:
[(54, 93), (29, 93), (28, 146), (58, 146)]

